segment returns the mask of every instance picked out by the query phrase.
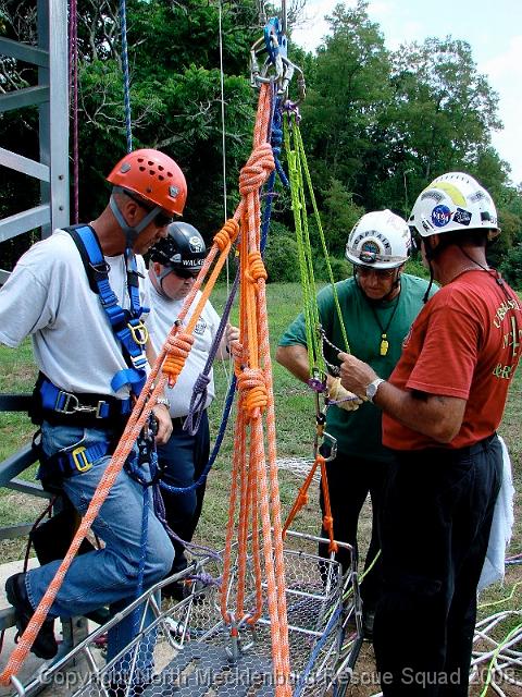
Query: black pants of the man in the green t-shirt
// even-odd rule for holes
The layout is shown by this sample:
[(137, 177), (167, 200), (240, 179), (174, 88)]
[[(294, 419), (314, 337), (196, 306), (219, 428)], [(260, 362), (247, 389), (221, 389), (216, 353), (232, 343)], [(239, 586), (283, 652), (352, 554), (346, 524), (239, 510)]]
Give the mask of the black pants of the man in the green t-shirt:
[[(327, 456), (328, 453), (325, 452), (323, 454)], [(349, 542), (357, 549), (359, 515), (370, 492), (372, 499), (372, 537), (368, 548), (365, 568), (370, 566), (381, 549), (377, 521), (387, 466), (383, 462), (352, 457), (343, 452), (337, 452), (337, 457), (326, 463), (330, 503), (334, 518), (334, 538), (336, 540)], [(324, 515), (322, 489), (320, 503)], [(321, 537), (327, 537), (324, 528), (321, 530)], [(321, 557), (328, 557), (327, 545), (320, 545), (319, 553)], [(343, 565), (343, 571), (346, 572), (350, 564), (348, 550), (339, 548), (337, 560)], [(365, 611), (375, 609), (381, 595), (381, 558), (378, 558), (361, 584), (361, 597)]]

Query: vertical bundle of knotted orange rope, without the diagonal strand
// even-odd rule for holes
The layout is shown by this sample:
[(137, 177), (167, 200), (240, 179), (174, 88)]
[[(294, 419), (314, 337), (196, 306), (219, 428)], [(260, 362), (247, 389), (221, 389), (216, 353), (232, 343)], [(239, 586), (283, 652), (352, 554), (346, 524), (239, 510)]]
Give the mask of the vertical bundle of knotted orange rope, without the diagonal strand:
[[(274, 168), (268, 143), (271, 115), (270, 89), (261, 87), (254, 127), (253, 149), (239, 175), (241, 203), (236, 211), (241, 225), (239, 242), (240, 346), (234, 350), (238, 387), (233, 482), (228, 508), (226, 547), (223, 563), (221, 612), (225, 622), (254, 623), (262, 612), (261, 559), (259, 525), (262, 529), (266, 601), (270, 615), (272, 657), (277, 697), (289, 697), (289, 649), (286, 617), (285, 571), (283, 559), (281, 503), (275, 450), (275, 413), (272, 365), (266, 314), (266, 270), (260, 253), (261, 206), (259, 189)], [(235, 216), (236, 218), (236, 216)], [(268, 453), (263, 433), (266, 419)], [(268, 455), (268, 456), (266, 456)], [(236, 609), (232, 611), (232, 540), (238, 512), (238, 559)], [(250, 524), (250, 535), (248, 525)], [(244, 608), (246, 597), (246, 559), (250, 545), (254, 570), (254, 607)], [(231, 615), (234, 615), (232, 617)]]

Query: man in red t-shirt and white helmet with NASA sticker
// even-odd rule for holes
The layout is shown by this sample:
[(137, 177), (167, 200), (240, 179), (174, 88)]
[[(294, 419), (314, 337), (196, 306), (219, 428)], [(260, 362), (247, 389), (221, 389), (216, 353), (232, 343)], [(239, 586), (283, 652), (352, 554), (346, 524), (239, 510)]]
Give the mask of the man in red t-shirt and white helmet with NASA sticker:
[(472, 176), (435, 179), (409, 223), (443, 288), (413, 323), (389, 378), (340, 354), (341, 383), (373, 392), (383, 442), (394, 452), (374, 632), (383, 694), (464, 697), (501, 479), (496, 429), (520, 358), (522, 310), (487, 264), (497, 211)]

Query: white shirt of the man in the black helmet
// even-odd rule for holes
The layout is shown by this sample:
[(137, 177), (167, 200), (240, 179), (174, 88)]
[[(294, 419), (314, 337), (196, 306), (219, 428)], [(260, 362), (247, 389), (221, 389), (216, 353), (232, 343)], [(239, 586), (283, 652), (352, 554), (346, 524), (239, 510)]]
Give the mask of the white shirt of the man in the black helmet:
[[(152, 285), (148, 276), (146, 285), (147, 293), (150, 298), (150, 315), (147, 327), (150, 332), (152, 346), (158, 354), (163, 346), (174, 321), (177, 319), (184, 301), (171, 301), (163, 297), (163, 295), (160, 295)], [(201, 293), (198, 291), (187, 315), (185, 316), (185, 319), (183, 320), (183, 327), (188, 325), (200, 297)], [(194, 344), (190, 353), (188, 354), (185, 366), (177, 378), (176, 384), (172, 390), (170, 388), (165, 388), (165, 394), (171, 403), (171, 416), (186, 416), (188, 414), (194, 384), (204, 368), (219, 323), (220, 317), (217, 313), (212, 307), (211, 303), (207, 302), (203, 307), (203, 311), (201, 313), (201, 317), (194, 329)], [(212, 370), (210, 371), (209, 377), (210, 382), (207, 386), (206, 407), (210, 405), (215, 394)]]

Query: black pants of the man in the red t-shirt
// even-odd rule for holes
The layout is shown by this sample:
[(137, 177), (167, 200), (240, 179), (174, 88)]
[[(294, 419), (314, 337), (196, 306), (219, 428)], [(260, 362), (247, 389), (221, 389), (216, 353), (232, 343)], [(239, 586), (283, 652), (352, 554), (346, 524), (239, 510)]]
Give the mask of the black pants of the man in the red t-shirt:
[(374, 648), (385, 697), (467, 697), (476, 586), (500, 488), (493, 436), (396, 452), (381, 509)]

